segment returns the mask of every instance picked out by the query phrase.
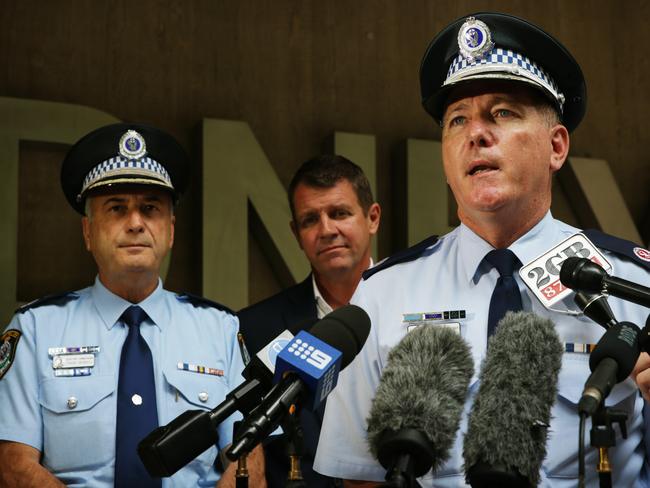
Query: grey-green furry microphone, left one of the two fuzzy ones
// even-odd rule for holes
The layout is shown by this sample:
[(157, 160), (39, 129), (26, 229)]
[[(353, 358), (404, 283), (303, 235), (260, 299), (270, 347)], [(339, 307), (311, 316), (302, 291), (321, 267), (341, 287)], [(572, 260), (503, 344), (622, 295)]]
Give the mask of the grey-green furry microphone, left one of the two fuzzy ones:
[(447, 460), (473, 373), (469, 346), (446, 327), (421, 325), (393, 348), (368, 417), (388, 486), (414, 486)]

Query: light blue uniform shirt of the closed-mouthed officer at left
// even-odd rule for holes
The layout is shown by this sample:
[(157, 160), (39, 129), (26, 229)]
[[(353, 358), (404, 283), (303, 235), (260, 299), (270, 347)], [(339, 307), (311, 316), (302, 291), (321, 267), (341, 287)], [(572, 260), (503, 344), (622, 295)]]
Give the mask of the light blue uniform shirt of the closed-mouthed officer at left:
[[(69, 298), (63, 306), (17, 313), (7, 328), (22, 336), (13, 365), (0, 379), (0, 439), (41, 451), (42, 464), (68, 486), (113, 487), (119, 361), (128, 333), (119, 317), (131, 303), (99, 279)], [(141, 333), (153, 356), (160, 425), (186, 410), (214, 408), (241, 383), (235, 316), (195, 306), (161, 282), (138, 305), (150, 318)], [(76, 346), (99, 346), (90, 375), (55, 376), (48, 350)], [(187, 365), (212, 369), (199, 373)], [(231, 442), (239, 418), (235, 414), (219, 426), (219, 449)], [(162, 486), (214, 486), (217, 454), (217, 446), (210, 448), (163, 478)]]

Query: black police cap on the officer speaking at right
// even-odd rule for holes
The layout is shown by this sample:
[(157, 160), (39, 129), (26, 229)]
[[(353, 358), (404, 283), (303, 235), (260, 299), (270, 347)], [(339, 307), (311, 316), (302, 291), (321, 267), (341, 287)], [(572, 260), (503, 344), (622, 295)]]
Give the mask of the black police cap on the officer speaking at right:
[(420, 65), (422, 105), (440, 122), (453, 87), (485, 79), (538, 88), (569, 131), (578, 126), (587, 108), (585, 80), (571, 53), (539, 27), (512, 15), (475, 13), (438, 34)]

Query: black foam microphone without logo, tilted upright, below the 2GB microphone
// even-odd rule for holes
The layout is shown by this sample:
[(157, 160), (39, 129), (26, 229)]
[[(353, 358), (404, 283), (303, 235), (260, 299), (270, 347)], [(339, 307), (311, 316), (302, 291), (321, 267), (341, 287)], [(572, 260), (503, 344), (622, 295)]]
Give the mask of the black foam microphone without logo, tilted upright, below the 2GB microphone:
[(589, 356), (592, 373), (585, 383), (578, 412), (593, 415), (616, 383), (627, 378), (641, 354), (641, 331), (631, 322), (610, 327)]

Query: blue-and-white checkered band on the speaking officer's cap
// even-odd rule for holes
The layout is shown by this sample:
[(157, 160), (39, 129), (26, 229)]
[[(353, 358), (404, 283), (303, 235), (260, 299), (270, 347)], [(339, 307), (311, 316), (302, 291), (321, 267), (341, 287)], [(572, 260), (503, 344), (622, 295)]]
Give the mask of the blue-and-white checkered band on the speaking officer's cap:
[(526, 56), (508, 49), (494, 48), (485, 56), (473, 61), (459, 54), (451, 62), (443, 86), (453, 85), (466, 79), (490, 77), (523, 79), (538, 85), (557, 101), (560, 111), (562, 110), (564, 95), (558, 90), (555, 81)]

